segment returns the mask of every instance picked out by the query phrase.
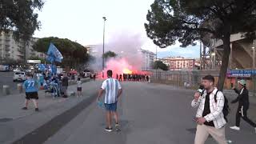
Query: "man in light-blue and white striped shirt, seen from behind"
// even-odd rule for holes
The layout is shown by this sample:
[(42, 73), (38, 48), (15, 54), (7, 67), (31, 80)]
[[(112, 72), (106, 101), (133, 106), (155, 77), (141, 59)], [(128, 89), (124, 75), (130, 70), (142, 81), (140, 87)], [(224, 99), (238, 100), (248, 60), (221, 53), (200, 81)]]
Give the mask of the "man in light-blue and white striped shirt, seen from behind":
[(119, 122), (118, 122), (118, 112), (117, 112), (117, 103), (118, 98), (120, 98), (122, 94), (122, 87), (117, 79), (112, 78), (112, 70), (107, 70), (107, 79), (102, 83), (102, 88), (98, 92), (97, 102), (99, 98), (102, 97), (103, 91), (106, 91), (105, 94), (105, 108), (106, 108), (106, 131), (112, 131), (111, 119), (112, 115), (114, 115), (115, 120), (115, 128), (117, 131), (120, 130)]

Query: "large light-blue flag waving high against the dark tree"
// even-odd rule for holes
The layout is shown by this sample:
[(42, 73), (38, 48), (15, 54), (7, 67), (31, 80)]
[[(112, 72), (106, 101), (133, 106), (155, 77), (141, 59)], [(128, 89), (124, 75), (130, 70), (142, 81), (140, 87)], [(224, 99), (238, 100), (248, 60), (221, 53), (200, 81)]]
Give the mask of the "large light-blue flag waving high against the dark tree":
[(61, 52), (58, 51), (57, 47), (54, 46), (52, 42), (50, 42), (49, 49), (47, 51), (47, 60), (50, 61), (50, 63), (53, 62), (62, 62), (63, 56)]

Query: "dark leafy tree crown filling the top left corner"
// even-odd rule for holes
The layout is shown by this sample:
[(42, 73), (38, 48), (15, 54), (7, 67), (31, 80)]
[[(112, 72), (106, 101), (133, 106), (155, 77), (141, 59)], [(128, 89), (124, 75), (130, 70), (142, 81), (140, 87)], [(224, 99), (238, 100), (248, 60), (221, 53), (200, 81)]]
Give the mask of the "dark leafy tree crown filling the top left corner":
[(43, 5), (42, 0), (1, 0), (0, 33), (14, 30), (15, 40), (27, 42), (40, 26), (34, 11), (42, 10)]

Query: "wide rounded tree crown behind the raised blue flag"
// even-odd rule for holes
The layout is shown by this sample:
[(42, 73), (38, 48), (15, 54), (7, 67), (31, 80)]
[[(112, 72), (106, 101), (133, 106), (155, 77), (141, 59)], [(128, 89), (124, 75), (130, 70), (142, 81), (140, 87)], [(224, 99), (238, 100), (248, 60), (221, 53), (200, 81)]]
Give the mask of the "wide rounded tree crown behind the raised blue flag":
[(63, 55), (63, 62), (59, 65), (70, 66), (70, 68), (78, 68), (80, 64), (88, 61), (89, 54), (87, 54), (87, 49), (77, 42), (72, 42), (67, 38), (40, 38), (34, 43), (34, 50), (38, 52), (46, 53), (50, 42), (54, 43), (54, 46)]

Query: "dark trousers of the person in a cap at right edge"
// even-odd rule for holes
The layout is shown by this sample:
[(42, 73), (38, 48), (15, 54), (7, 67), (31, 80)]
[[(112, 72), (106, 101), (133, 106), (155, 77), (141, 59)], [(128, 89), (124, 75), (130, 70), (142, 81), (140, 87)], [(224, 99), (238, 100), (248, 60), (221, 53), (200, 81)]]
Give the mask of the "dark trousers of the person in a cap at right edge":
[(248, 108), (244, 108), (243, 106), (238, 106), (237, 114), (236, 114), (236, 126), (240, 126), (240, 119), (242, 118), (244, 121), (248, 122), (250, 126), (256, 127), (256, 123), (252, 122), (248, 117), (247, 117), (247, 110)]

